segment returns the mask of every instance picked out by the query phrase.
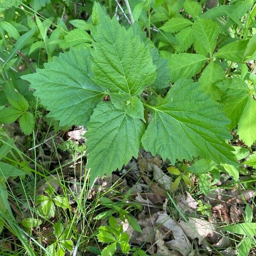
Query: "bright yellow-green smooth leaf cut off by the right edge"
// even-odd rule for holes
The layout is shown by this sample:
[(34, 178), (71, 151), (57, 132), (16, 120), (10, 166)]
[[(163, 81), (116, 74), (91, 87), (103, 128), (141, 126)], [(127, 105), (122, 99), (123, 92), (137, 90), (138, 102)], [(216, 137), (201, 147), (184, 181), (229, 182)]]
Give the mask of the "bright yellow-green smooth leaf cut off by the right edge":
[(256, 101), (249, 97), (238, 123), (239, 138), (250, 147), (256, 141)]

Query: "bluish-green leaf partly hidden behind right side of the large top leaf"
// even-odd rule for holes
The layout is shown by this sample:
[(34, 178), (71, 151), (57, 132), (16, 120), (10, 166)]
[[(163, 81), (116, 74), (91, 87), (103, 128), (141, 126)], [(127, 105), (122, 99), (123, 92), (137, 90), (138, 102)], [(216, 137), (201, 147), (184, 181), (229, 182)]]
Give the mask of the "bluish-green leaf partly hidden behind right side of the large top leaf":
[(151, 49), (151, 56), (153, 64), (156, 65), (156, 79), (151, 87), (162, 89), (169, 86), (170, 72), (171, 70), (168, 67), (168, 59), (162, 58), (159, 54), (157, 48)]

